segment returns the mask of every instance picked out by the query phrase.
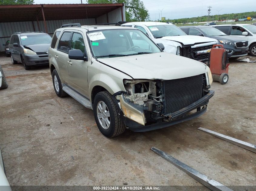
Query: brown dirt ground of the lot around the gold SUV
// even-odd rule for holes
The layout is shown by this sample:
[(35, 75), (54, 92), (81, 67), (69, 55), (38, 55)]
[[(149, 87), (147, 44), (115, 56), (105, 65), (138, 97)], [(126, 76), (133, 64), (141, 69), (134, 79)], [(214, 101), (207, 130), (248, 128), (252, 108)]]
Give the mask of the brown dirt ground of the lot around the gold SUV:
[(201, 185), (152, 146), (226, 186), (256, 185), (255, 153), (197, 129), (256, 144), (256, 63), (231, 60), (229, 81), (213, 82), (204, 115), (115, 138), (100, 133), (91, 110), (56, 96), (47, 66), (0, 64), (9, 84), (0, 91), (0, 146), (10, 185)]

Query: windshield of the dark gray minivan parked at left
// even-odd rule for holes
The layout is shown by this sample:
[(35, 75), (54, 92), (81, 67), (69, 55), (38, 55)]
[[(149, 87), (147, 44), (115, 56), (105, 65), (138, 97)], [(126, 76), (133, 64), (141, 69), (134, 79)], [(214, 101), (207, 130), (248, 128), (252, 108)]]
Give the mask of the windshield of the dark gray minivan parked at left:
[(48, 34), (23, 35), (20, 40), (22, 45), (48, 44), (51, 43), (52, 37)]

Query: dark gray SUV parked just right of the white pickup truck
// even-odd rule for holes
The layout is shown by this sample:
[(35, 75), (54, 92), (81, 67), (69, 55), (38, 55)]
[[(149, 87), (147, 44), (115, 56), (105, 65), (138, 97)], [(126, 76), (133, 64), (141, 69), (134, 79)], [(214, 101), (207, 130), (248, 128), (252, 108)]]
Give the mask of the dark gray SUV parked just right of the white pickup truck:
[(248, 38), (241, 36), (231, 36), (210, 26), (186, 26), (180, 27), (188, 35), (214, 38), (228, 50), (229, 58), (237, 58), (248, 54)]

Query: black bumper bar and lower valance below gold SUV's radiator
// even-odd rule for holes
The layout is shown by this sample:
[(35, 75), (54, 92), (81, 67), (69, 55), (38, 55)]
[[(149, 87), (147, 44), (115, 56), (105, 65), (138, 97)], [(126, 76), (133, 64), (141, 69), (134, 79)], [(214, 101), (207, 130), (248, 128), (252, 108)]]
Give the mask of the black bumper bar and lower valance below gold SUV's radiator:
[[(145, 131), (161, 129), (161, 128), (168, 127), (171, 125), (182, 123), (182, 122), (194, 119), (194, 118), (204, 114), (207, 110), (208, 101), (211, 97), (213, 97), (213, 95), (214, 95), (214, 91), (208, 91), (208, 94), (206, 94), (204, 97), (202, 97), (198, 101), (190, 104), (189, 106), (184, 107), (181, 110), (178, 110), (176, 112), (166, 114), (165, 116), (169, 116), (169, 118), (170, 118), (169, 122), (160, 122), (160, 123), (155, 123), (155, 124), (146, 125), (146, 126), (141, 126), (135, 122), (132, 122), (132, 123), (125, 122), (125, 124), (128, 127), (128, 129), (130, 129), (131, 131), (145, 132)], [(202, 106), (204, 106), (204, 107), (201, 109)], [(197, 112), (195, 112), (195, 113), (188, 114), (189, 112), (191, 112), (192, 110), (195, 110), (197, 108), (200, 108), (200, 110), (197, 110)]]

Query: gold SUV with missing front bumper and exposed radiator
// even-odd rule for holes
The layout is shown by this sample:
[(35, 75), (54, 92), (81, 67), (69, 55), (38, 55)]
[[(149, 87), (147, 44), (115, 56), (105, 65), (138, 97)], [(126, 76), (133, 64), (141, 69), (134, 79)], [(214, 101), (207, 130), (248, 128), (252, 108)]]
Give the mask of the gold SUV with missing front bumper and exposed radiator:
[(136, 28), (62, 25), (49, 48), (55, 92), (92, 109), (106, 137), (202, 115), (214, 95), (210, 69), (163, 49)]

